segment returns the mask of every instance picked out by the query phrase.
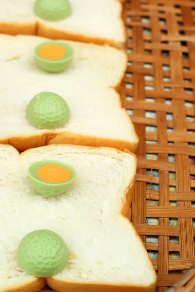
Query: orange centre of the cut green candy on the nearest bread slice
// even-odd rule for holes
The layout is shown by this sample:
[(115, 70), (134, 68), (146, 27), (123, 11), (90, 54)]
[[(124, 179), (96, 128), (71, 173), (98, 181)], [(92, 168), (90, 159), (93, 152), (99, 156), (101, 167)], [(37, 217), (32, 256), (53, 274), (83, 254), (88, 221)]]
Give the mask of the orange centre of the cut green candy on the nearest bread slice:
[(65, 183), (71, 179), (72, 174), (60, 165), (48, 164), (37, 169), (37, 176), (46, 183)]

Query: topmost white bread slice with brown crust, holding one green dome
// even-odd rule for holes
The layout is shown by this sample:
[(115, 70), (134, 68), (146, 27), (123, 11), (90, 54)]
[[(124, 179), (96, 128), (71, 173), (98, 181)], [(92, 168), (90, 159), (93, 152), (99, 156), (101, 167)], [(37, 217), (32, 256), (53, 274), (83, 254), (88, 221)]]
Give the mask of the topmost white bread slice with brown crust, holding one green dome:
[(38, 34), (122, 47), (125, 28), (118, 0), (70, 0), (72, 13), (60, 21), (46, 21), (34, 14), (35, 0), (0, 0), (0, 33)]

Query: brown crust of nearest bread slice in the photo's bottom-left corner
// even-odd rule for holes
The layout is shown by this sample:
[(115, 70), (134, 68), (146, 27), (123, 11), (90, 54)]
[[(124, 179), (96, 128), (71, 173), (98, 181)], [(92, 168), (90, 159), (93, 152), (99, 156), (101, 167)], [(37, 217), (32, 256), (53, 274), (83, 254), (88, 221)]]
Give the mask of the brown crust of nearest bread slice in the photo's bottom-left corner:
[(0, 290), (0, 292), (38, 292), (45, 286), (44, 278), (36, 278), (25, 286), (18, 286), (9, 290)]

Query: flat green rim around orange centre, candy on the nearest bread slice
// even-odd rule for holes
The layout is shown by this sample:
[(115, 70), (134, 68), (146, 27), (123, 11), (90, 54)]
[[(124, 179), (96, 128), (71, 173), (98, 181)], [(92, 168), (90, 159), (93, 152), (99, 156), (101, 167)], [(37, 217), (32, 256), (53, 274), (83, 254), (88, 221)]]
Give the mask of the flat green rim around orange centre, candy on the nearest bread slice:
[[(40, 166), (43, 166), (43, 165), (59, 165), (59, 166), (62, 166), (66, 169), (68, 169), (71, 174), (72, 174), (72, 177), (70, 178), (70, 180), (68, 180), (67, 182), (64, 182), (64, 183), (48, 183), (48, 182), (45, 182), (41, 179), (39, 179), (39, 177), (37, 176), (37, 169), (40, 167)], [(43, 161), (37, 161), (33, 164), (31, 164), (29, 167), (28, 167), (28, 175), (30, 177), (31, 180), (33, 180), (35, 183), (41, 183), (42, 185), (45, 185), (45, 186), (48, 186), (48, 185), (56, 185), (56, 186), (68, 186), (68, 185), (71, 185), (72, 183), (75, 182), (76, 178), (77, 178), (77, 172), (76, 170), (69, 164), (65, 164), (63, 162), (60, 162), (60, 161), (57, 161), (57, 160), (43, 160)]]

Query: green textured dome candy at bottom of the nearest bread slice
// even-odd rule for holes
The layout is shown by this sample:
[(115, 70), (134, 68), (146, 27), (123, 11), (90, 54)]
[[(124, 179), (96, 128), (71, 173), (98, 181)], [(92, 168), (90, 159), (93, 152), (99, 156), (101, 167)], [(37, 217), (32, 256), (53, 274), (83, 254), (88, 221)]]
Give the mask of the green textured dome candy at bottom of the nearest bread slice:
[(21, 269), (36, 277), (51, 277), (61, 272), (68, 262), (68, 249), (63, 239), (50, 230), (35, 230), (20, 241), (17, 261)]

